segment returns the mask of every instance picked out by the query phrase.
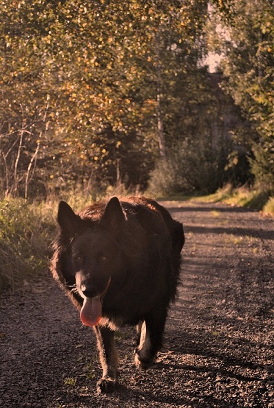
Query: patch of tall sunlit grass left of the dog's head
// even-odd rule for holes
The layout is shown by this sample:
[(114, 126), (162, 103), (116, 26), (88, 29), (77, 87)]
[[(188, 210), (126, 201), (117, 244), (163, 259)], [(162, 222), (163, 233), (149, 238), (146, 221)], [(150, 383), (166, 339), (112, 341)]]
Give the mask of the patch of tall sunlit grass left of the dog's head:
[(56, 227), (52, 206), (0, 201), (0, 289), (12, 291), (31, 272), (46, 268)]

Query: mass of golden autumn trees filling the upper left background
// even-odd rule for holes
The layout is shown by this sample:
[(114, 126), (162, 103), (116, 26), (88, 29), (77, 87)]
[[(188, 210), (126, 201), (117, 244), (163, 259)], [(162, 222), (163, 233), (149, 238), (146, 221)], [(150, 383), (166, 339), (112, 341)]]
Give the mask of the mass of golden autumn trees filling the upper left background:
[[(180, 70), (196, 69), (206, 1), (0, 1), (2, 189), (145, 186)], [(160, 137), (161, 136), (161, 137)], [(161, 147), (159, 147), (159, 143)], [(35, 188), (33, 188), (35, 186)]]

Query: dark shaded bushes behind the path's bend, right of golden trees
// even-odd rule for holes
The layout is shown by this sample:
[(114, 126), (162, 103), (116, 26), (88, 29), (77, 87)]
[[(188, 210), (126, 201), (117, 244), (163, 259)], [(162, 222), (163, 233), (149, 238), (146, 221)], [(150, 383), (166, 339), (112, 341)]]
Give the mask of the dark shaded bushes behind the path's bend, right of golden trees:
[(234, 178), (238, 184), (240, 177), (245, 178), (242, 161), (233, 165), (233, 171), (228, 161), (233, 147), (224, 116), (233, 105), (216, 92), (204, 69), (179, 75), (169, 104), (173, 109), (164, 119), (167, 160), (160, 160), (151, 172), (149, 193), (210, 193), (227, 180)]

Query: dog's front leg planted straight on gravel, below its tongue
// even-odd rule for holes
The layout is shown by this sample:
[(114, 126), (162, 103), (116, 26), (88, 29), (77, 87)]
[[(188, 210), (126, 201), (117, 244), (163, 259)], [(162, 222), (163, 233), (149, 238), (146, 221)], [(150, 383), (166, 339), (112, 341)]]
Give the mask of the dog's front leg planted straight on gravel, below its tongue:
[(114, 331), (95, 326), (94, 332), (103, 368), (103, 376), (97, 383), (97, 390), (103, 393), (112, 392), (118, 383), (118, 357), (114, 344)]

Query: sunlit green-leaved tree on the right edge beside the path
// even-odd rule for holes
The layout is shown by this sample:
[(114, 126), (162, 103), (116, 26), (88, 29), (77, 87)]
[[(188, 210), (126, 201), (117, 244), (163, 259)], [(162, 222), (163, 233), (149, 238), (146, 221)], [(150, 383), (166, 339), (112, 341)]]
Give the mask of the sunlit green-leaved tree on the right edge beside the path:
[(249, 160), (255, 182), (273, 190), (273, 2), (234, 0), (221, 19), (218, 10), (216, 14), (215, 31), (219, 34), (213, 47), (224, 56), (220, 67), (228, 80), (223, 88), (253, 127), (249, 139), (253, 157)]

